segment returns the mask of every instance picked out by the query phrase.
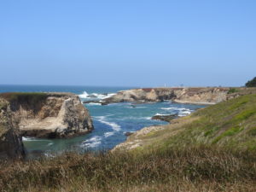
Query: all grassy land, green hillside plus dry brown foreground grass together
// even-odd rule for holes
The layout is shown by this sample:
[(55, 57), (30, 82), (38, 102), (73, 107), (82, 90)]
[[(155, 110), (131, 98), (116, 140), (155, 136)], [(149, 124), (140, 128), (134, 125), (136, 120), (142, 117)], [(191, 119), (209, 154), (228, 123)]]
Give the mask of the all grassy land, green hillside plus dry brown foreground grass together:
[(255, 122), (256, 95), (241, 96), (139, 137), (135, 153), (0, 162), (0, 190), (256, 191)]

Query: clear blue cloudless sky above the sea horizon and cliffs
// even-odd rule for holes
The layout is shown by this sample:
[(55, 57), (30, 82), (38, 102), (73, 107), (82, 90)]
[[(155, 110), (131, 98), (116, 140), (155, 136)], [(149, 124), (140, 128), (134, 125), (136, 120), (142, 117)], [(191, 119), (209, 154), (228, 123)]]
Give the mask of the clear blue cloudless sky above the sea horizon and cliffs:
[(0, 71), (0, 84), (240, 86), (256, 76), (256, 1), (1, 1)]

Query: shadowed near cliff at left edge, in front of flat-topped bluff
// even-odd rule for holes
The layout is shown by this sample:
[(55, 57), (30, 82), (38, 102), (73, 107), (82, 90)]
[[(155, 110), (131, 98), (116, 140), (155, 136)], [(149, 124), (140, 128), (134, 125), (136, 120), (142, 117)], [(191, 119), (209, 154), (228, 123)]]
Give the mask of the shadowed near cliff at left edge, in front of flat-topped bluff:
[(0, 159), (21, 159), (24, 148), (9, 102), (0, 98)]

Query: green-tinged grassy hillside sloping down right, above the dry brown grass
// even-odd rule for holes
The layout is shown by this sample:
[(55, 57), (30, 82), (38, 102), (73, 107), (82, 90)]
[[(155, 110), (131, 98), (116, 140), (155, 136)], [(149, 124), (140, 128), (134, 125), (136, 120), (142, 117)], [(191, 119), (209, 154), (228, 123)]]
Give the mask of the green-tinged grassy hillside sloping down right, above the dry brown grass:
[(137, 148), (139, 151), (201, 144), (255, 151), (256, 95), (240, 96), (203, 108), (188, 117), (173, 120), (161, 131), (136, 139), (143, 141), (143, 147)]

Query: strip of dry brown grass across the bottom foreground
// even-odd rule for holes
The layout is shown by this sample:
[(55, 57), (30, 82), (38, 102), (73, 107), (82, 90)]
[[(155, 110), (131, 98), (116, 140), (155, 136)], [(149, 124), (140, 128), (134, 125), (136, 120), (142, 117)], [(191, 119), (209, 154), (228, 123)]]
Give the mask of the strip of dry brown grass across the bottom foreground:
[(2, 191), (255, 191), (256, 155), (215, 147), (2, 162)]

